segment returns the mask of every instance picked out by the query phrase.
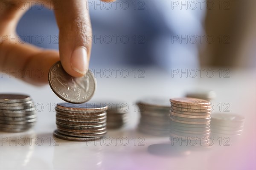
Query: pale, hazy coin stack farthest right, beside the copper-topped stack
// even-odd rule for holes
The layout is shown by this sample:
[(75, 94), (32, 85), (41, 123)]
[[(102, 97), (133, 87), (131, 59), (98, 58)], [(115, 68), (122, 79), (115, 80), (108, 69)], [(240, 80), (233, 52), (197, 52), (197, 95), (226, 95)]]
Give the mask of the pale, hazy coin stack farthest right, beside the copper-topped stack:
[(213, 113), (211, 116), (211, 135), (237, 136), (244, 127), (244, 117), (232, 113)]

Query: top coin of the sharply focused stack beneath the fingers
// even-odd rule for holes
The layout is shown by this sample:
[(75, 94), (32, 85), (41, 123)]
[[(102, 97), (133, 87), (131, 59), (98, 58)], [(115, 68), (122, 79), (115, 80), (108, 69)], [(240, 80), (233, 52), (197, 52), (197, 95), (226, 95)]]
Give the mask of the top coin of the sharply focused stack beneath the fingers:
[(102, 106), (97, 103), (81, 103), (81, 104), (72, 104), (72, 103), (58, 103), (56, 108), (64, 111), (75, 111), (75, 112), (103, 112), (108, 110), (108, 106)]

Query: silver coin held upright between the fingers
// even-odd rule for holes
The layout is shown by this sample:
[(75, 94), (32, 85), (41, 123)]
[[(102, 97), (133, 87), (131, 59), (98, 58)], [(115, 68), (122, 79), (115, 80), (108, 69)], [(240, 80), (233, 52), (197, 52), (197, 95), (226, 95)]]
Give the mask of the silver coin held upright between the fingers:
[(48, 81), (52, 91), (70, 103), (87, 102), (96, 89), (96, 79), (90, 70), (82, 77), (72, 77), (64, 71), (60, 61), (50, 68)]

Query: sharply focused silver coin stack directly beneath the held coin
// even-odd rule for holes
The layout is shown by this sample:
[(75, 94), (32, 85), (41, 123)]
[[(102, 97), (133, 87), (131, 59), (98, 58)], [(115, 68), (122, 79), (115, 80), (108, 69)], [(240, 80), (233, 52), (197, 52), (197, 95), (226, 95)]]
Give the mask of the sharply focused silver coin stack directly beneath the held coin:
[(57, 130), (53, 135), (72, 141), (98, 140), (107, 133), (108, 106), (93, 103), (59, 103), (56, 111)]

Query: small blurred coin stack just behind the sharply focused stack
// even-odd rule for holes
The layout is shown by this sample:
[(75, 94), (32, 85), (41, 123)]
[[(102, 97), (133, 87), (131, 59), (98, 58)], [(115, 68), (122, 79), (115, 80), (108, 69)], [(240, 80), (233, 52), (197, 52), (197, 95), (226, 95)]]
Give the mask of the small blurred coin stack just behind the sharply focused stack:
[(128, 122), (128, 105), (120, 102), (107, 102), (107, 127), (108, 129), (116, 129), (123, 127)]

